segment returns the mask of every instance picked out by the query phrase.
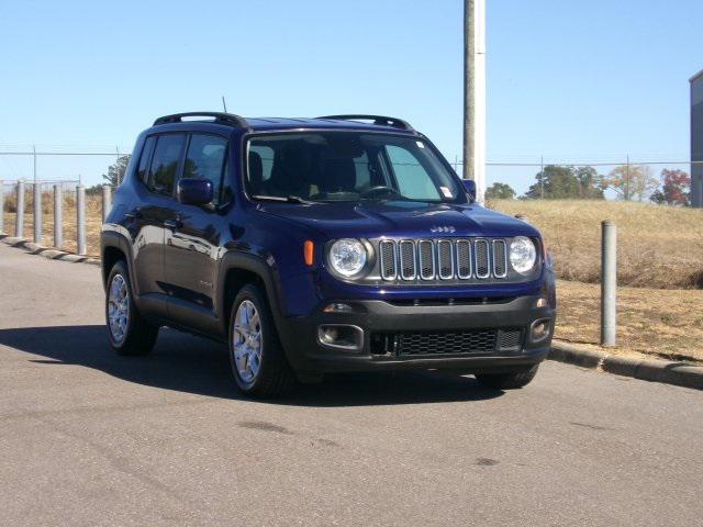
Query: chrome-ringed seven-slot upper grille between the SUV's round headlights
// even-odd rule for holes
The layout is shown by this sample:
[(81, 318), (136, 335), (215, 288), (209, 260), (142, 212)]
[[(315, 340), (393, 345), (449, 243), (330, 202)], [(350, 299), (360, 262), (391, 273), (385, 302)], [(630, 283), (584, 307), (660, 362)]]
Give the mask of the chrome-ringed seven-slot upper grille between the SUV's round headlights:
[(378, 247), (383, 280), (507, 277), (507, 243), (502, 238), (382, 239)]

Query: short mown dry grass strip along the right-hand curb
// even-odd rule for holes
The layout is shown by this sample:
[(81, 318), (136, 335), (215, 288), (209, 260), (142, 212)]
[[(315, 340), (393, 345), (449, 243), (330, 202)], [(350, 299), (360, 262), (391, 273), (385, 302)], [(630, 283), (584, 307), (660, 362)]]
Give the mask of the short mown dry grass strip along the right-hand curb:
[[(600, 338), (599, 284), (557, 282), (555, 337), (594, 344)], [(703, 362), (703, 291), (618, 288), (618, 352), (637, 351)]]

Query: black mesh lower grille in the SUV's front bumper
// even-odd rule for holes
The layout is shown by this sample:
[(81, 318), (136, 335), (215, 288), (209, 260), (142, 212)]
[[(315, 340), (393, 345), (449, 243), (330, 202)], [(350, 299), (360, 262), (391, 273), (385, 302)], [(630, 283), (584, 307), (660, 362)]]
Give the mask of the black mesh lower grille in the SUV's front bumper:
[(371, 352), (397, 357), (493, 354), (518, 349), (521, 337), (520, 328), (375, 334)]

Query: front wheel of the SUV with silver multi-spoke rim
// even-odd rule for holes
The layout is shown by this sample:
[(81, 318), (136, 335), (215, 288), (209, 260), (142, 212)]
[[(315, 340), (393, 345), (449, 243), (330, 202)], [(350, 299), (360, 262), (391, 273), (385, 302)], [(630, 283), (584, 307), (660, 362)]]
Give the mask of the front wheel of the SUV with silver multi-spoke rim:
[(244, 393), (277, 397), (295, 385), (266, 295), (253, 283), (232, 303), (228, 340), (232, 374)]

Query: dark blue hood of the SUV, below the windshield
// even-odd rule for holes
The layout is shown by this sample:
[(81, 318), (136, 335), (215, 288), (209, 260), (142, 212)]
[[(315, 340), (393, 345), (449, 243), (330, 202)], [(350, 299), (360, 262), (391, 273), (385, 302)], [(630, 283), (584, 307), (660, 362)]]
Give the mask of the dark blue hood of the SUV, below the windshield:
[(330, 238), (380, 236), (539, 236), (532, 225), (476, 203), (261, 203), (259, 210), (311, 227)]

